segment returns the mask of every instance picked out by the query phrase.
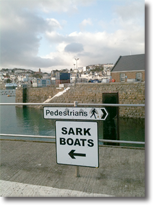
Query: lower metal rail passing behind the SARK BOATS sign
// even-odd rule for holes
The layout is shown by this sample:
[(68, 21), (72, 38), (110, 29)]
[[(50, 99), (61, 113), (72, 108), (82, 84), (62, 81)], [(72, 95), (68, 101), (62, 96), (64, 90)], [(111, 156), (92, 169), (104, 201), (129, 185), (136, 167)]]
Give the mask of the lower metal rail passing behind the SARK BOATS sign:
[[(55, 139), (55, 136), (40, 136), (40, 135), (20, 135), (20, 134), (0, 134), (0, 136), (7, 136), (7, 137), (29, 137), (29, 138), (47, 138), (47, 139)], [(100, 142), (109, 142), (109, 143), (125, 143), (125, 144), (139, 144), (145, 145), (145, 142), (138, 142), (138, 141), (122, 141), (122, 140), (106, 140), (106, 139), (99, 139)]]

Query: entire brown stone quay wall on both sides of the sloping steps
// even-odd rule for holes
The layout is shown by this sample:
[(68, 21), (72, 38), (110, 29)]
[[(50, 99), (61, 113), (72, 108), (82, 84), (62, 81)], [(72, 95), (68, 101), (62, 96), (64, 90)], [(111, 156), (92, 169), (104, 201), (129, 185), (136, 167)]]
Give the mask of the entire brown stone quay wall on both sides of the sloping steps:
[[(44, 102), (59, 91), (53, 87), (30, 88), (28, 102)], [(61, 90), (60, 90), (61, 91)], [(21, 90), (16, 91), (16, 101), (20, 102)], [(145, 104), (145, 83), (80, 83), (71, 86), (63, 95), (51, 100), (52, 103), (102, 103), (103, 93), (118, 92), (119, 104)], [(124, 118), (145, 118), (145, 107), (119, 107), (119, 116)]]

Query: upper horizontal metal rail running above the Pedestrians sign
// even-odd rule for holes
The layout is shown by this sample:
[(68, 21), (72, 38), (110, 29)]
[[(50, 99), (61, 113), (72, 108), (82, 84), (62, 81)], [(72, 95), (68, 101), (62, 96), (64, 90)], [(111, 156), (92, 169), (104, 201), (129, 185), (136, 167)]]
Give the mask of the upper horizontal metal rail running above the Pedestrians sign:
[[(9, 105), (9, 106), (17, 106), (17, 105), (43, 105), (43, 106), (58, 106), (58, 105), (74, 105), (74, 103), (0, 103), (0, 106)], [(77, 106), (110, 106), (110, 107), (145, 107), (145, 104), (108, 104), (108, 103), (78, 103)]]

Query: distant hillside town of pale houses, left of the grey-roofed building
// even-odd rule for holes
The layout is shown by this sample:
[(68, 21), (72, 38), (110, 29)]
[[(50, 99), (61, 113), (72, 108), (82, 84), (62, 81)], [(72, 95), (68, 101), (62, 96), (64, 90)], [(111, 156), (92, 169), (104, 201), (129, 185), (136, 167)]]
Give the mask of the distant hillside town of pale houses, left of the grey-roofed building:
[(0, 83), (5, 86), (16, 87), (31, 86), (44, 87), (62, 83), (109, 83), (112, 63), (76, 67), (74, 69), (52, 70), (51, 73), (23, 68), (2, 68), (0, 70)]

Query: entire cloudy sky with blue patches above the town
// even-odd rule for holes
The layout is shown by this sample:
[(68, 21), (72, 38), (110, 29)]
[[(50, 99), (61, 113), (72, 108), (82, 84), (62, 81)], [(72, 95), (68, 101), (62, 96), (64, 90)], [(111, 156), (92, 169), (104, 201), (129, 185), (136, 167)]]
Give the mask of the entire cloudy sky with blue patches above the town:
[(0, 69), (43, 72), (144, 53), (144, 0), (0, 0)]

